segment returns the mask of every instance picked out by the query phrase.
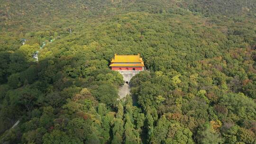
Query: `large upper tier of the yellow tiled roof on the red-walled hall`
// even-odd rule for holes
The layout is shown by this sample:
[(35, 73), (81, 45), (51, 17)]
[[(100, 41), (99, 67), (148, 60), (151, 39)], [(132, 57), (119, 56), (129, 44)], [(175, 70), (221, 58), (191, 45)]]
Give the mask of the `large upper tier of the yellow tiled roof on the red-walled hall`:
[(117, 55), (112, 59), (111, 63), (143, 63), (140, 55)]

